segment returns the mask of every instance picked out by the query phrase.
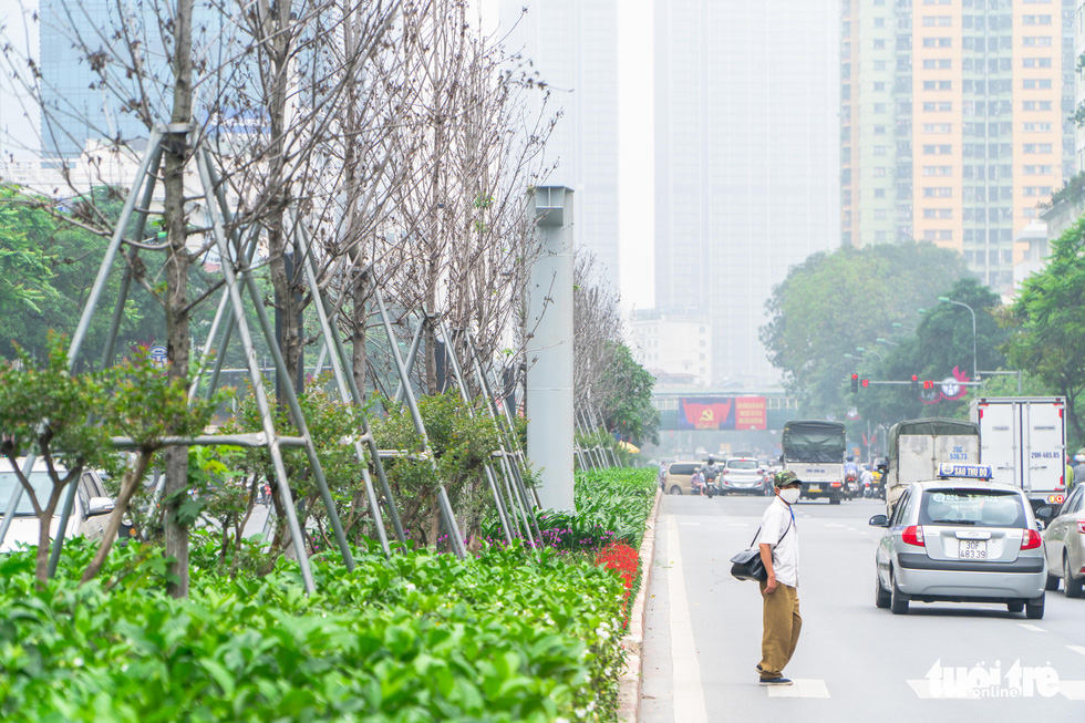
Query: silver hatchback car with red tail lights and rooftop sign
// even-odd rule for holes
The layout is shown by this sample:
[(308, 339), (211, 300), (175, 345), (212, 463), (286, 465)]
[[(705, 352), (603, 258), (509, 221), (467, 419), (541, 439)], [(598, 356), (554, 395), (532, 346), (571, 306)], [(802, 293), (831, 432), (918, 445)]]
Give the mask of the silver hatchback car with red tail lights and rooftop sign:
[(994, 602), (1044, 617), (1047, 564), (1032, 506), (1012, 485), (939, 479), (908, 485), (878, 545), (876, 605)]

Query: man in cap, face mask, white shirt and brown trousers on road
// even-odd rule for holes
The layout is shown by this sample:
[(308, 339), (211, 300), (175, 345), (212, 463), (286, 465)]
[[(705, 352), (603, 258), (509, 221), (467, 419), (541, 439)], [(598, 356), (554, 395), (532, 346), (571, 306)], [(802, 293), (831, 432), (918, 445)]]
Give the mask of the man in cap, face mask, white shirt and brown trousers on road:
[(761, 519), (757, 545), (768, 579), (761, 583), (764, 632), (757, 672), (762, 685), (790, 685), (784, 667), (795, 653), (803, 618), (798, 614), (798, 530), (792, 509), (802, 494), (794, 472), (776, 474), (776, 498)]

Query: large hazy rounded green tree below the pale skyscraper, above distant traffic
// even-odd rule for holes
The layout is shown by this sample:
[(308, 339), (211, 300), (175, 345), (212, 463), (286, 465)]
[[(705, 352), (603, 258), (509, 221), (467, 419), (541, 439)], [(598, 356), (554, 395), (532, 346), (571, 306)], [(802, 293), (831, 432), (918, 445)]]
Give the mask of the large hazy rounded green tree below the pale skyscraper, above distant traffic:
[(914, 323), (916, 309), (967, 275), (960, 255), (926, 242), (815, 254), (773, 289), (761, 340), (803, 414), (839, 419), (850, 406), (854, 362), (845, 354), (895, 322)]

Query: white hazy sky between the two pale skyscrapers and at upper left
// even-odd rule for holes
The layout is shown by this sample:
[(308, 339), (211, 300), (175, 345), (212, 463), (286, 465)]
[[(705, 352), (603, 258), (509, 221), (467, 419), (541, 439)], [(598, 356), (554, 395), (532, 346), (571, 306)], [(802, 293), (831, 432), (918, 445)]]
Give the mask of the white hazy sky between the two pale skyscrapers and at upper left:
[[(484, 22), (497, 22), (497, 0), (477, 0)], [(529, 0), (528, 0), (529, 1)], [(619, 104), (619, 213), (621, 242), (621, 296), (623, 307), (649, 308), (654, 302), (654, 185), (652, 136), (652, 0), (616, 0), (618, 7)], [(14, 45), (27, 37), (25, 18), (38, 0), (0, 0), (0, 27)], [(33, 34), (37, 29), (31, 27)], [(31, 39), (37, 45), (37, 37)], [(35, 49), (37, 50), (37, 49)], [(25, 147), (37, 145), (37, 112), (27, 111), (12, 92), (7, 72), (0, 81), (0, 155), (29, 157)]]

